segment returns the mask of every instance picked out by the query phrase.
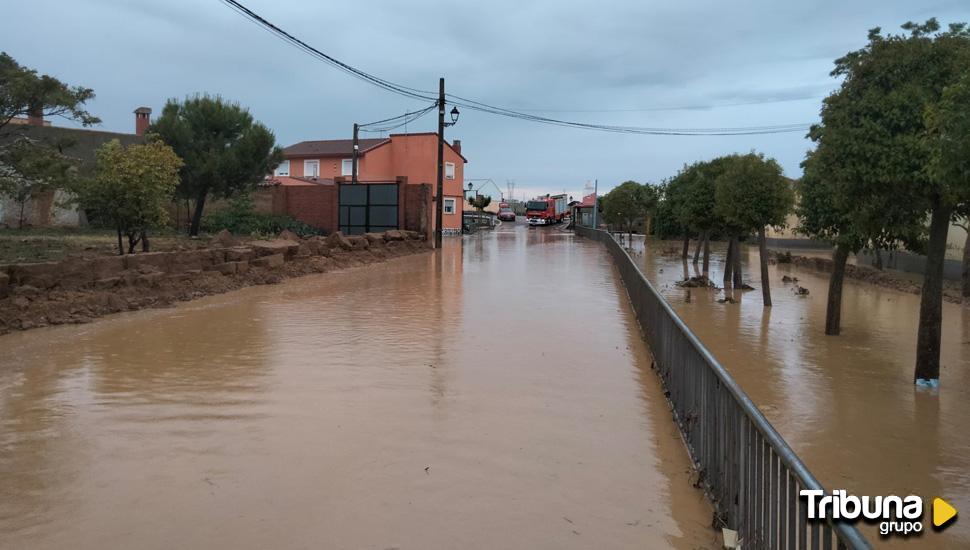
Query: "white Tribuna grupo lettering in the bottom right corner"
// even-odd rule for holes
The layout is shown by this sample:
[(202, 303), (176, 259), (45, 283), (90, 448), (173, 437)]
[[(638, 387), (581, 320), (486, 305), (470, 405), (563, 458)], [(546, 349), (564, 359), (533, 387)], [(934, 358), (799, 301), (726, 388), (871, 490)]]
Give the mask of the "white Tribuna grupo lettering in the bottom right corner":
[(915, 495), (899, 497), (850, 495), (842, 489), (826, 495), (819, 489), (803, 489), (808, 499), (808, 519), (864, 519), (879, 524), (882, 535), (911, 535), (923, 531), (923, 499)]

